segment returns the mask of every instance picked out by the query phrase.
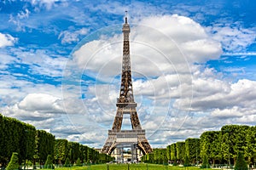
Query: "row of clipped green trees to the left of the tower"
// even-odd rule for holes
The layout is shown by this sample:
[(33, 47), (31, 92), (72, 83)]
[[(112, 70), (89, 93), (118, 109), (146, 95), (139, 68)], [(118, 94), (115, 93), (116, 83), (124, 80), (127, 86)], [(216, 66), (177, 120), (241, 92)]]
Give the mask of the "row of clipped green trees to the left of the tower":
[(113, 158), (100, 154), (97, 150), (67, 139), (55, 139), (51, 133), (37, 130), (30, 124), (20, 122), (15, 118), (0, 114), (0, 165), (6, 167), (13, 152), (19, 157), (19, 164), (32, 161), (44, 165), (48, 156), (54, 163), (64, 164), (70, 161), (73, 164), (80, 162), (108, 162)]

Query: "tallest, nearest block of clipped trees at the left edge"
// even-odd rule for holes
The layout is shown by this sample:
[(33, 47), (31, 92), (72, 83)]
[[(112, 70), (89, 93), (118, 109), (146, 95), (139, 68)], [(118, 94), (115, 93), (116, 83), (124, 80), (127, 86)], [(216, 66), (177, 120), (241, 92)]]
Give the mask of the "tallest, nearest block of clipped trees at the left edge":
[(30, 124), (0, 114), (0, 163), (5, 164), (13, 152), (19, 155), (19, 163), (34, 155), (36, 129)]

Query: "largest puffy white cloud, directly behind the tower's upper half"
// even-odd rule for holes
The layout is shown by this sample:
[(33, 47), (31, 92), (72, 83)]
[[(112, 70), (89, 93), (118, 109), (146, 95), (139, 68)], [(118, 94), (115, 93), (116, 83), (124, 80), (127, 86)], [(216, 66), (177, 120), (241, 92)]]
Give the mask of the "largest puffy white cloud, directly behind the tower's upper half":
[[(137, 73), (135, 76), (189, 72), (190, 64), (218, 59), (222, 53), (220, 43), (212, 40), (203, 27), (187, 17), (155, 16), (139, 23), (131, 27), (131, 61), (133, 71)], [(122, 37), (109, 37), (103, 33), (115, 31), (116, 27), (97, 32), (96, 35), (102, 34), (101, 39), (85, 43), (74, 52), (73, 61), (81, 69), (94, 72), (97, 77), (118, 75)]]

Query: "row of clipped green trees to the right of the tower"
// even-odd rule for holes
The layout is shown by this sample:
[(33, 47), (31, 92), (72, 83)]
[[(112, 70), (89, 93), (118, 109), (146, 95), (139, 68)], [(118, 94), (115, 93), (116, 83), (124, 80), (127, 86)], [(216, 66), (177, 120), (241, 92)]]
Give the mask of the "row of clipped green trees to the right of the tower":
[(256, 126), (226, 125), (220, 131), (207, 131), (200, 139), (186, 139), (170, 144), (166, 149), (154, 149), (143, 156), (145, 162), (197, 164), (206, 159), (214, 164), (236, 164), (238, 153), (247, 164), (256, 163)]

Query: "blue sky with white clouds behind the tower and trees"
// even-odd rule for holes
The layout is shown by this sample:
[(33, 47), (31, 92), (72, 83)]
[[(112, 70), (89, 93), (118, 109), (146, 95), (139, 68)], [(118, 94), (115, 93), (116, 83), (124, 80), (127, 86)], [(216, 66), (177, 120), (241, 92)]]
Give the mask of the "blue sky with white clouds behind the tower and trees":
[(255, 125), (255, 8), (253, 0), (3, 0), (0, 111), (102, 147), (128, 10), (137, 111), (153, 147)]

